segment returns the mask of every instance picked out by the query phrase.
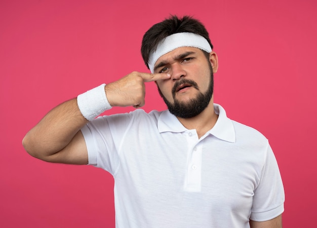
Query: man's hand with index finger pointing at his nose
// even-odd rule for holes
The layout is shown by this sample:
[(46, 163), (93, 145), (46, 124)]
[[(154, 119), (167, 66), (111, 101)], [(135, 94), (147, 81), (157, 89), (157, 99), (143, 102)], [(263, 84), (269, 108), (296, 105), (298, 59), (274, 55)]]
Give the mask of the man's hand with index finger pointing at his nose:
[(145, 103), (145, 82), (170, 79), (166, 73), (142, 73), (134, 71), (124, 78), (105, 86), (107, 99), (111, 106), (142, 107)]

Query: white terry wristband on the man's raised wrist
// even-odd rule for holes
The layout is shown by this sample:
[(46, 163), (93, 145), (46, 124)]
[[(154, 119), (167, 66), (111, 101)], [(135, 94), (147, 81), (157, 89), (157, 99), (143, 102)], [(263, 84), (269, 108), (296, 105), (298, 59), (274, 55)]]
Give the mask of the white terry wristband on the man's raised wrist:
[(91, 121), (102, 112), (111, 108), (104, 90), (106, 84), (102, 84), (92, 90), (88, 90), (77, 96), (77, 105), (83, 116)]

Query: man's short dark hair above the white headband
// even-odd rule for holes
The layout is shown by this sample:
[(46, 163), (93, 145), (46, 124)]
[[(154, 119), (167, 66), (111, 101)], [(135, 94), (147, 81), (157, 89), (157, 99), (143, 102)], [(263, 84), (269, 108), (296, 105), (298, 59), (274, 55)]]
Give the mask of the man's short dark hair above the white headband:
[(156, 50), (160, 41), (165, 37), (178, 32), (192, 32), (199, 34), (208, 41), (211, 48), (213, 49), (213, 45), (209, 39), (208, 31), (199, 20), (190, 16), (178, 18), (176, 15), (172, 15), (170, 18), (167, 18), (160, 23), (154, 24), (145, 32), (143, 36), (141, 54), (147, 68), (149, 68), (147, 64), (149, 54)]

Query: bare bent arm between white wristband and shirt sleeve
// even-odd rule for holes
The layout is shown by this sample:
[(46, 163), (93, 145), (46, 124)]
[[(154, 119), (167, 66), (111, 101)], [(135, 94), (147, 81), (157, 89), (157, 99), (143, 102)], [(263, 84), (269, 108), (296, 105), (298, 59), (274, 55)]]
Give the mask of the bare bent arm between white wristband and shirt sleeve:
[(80, 131), (87, 123), (74, 98), (47, 113), (22, 144), (31, 156), (47, 162), (87, 164), (86, 143)]

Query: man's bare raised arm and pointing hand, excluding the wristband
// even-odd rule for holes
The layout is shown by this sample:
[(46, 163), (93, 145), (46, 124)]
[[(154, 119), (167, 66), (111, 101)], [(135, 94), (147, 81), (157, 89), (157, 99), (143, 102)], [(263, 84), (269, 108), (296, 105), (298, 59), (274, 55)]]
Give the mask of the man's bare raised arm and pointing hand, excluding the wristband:
[[(132, 72), (105, 86), (111, 106), (144, 105), (144, 82), (167, 80), (165, 73)], [(53, 108), (23, 138), (25, 150), (33, 157), (67, 164), (87, 164), (87, 147), (80, 129), (88, 123), (77, 105), (77, 99)]]

